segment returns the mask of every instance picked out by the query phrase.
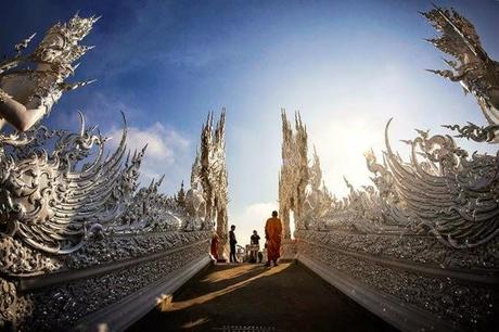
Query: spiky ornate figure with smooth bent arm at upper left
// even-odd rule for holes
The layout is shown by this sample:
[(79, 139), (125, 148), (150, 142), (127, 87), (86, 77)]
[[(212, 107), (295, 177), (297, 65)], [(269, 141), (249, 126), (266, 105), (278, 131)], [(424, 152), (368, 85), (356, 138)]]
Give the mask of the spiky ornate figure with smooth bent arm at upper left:
[[(5, 123), (20, 131), (31, 128), (49, 114), (64, 91), (91, 81), (68, 84), (73, 65), (92, 47), (79, 46), (100, 17), (76, 14), (68, 23), (52, 26), (29, 55), (23, 55), (35, 34), (15, 46), (17, 54), (0, 63), (0, 129)], [(28, 65), (36, 64), (35, 69)]]

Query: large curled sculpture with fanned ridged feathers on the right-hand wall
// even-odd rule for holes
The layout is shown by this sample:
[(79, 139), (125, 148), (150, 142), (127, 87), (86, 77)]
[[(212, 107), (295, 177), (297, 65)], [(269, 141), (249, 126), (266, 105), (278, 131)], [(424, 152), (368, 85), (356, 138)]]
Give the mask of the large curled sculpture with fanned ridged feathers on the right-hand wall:
[[(388, 123), (389, 125), (389, 123)], [(482, 245), (499, 233), (499, 158), (469, 154), (450, 136), (420, 137), (402, 163), (389, 145), (387, 161), (397, 193), (414, 220), (456, 248)]]

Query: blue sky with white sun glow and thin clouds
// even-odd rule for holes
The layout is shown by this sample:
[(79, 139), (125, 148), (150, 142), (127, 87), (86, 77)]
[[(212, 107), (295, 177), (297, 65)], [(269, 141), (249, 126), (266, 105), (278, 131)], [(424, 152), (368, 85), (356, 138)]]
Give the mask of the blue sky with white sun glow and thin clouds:
[[(466, 16), (499, 59), (498, 1), (438, 4)], [(98, 81), (66, 93), (44, 122), (75, 129), (81, 110), (114, 137), (124, 111), (130, 146), (150, 142), (143, 181), (165, 174), (167, 193), (189, 180), (207, 113), (226, 107), (230, 222), (248, 238), (277, 206), (281, 107), (300, 111), (338, 195), (344, 175), (369, 183), (362, 153), (383, 149), (391, 117), (394, 142), (413, 128), (485, 124), (472, 97), (424, 71), (444, 67), (423, 41), (436, 34), (418, 13), (430, 9), (430, 1), (15, 1), (2, 9), (0, 47), (10, 54), (34, 31), (39, 41), (78, 10), (102, 15), (75, 77)]]

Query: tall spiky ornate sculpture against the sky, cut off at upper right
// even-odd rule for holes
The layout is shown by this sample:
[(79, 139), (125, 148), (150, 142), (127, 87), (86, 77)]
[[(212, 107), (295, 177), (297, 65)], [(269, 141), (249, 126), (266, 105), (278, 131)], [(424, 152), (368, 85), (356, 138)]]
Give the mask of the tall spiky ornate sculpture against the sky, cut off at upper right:
[(474, 26), (455, 10), (435, 7), (422, 13), (442, 34), (428, 39), (440, 51), (451, 55), (446, 60), (450, 71), (430, 71), (452, 81), (459, 81), (464, 93), (471, 92), (477, 100), (482, 112), (489, 123), (486, 127), (474, 124), (468, 126), (448, 126), (458, 130), (460, 137), (474, 141), (499, 141), (499, 62), (485, 52)]

